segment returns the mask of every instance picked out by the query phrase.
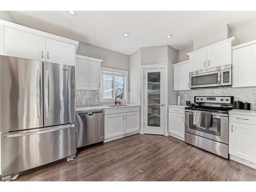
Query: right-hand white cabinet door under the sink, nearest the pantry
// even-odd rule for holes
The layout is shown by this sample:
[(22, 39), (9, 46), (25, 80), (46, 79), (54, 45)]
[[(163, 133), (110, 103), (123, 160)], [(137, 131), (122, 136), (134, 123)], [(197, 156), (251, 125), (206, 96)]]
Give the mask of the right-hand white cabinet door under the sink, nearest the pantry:
[(131, 133), (140, 130), (140, 112), (131, 112), (124, 114), (124, 133)]

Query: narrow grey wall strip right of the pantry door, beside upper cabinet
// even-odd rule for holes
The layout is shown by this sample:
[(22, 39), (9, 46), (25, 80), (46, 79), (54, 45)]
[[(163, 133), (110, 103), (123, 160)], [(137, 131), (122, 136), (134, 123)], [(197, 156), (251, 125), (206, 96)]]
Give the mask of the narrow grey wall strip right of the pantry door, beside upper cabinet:
[(174, 67), (173, 64), (178, 62), (178, 51), (170, 46), (167, 46), (168, 59), (168, 90), (174, 90)]

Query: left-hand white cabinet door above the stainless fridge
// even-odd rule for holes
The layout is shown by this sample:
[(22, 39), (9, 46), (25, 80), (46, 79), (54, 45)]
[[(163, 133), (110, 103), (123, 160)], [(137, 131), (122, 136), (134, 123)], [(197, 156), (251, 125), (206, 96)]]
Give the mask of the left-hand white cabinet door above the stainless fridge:
[(5, 55), (45, 61), (45, 37), (5, 27)]

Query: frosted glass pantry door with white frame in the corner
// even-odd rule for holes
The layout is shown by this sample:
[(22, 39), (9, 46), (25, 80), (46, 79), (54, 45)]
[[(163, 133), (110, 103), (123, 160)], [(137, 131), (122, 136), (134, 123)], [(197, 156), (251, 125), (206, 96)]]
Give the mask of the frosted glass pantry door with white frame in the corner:
[(146, 134), (164, 134), (164, 69), (144, 70), (144, 123)]

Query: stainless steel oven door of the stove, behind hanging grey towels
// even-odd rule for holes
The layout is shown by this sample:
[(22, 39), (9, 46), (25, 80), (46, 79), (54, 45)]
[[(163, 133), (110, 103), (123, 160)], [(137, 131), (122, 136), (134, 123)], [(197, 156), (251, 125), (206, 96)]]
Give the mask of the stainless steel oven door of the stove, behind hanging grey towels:
[(193, 111), (185, 111), (185, 132), (228, 144), (228, 115), (211, 113), (209, 129), (193, 124)]

